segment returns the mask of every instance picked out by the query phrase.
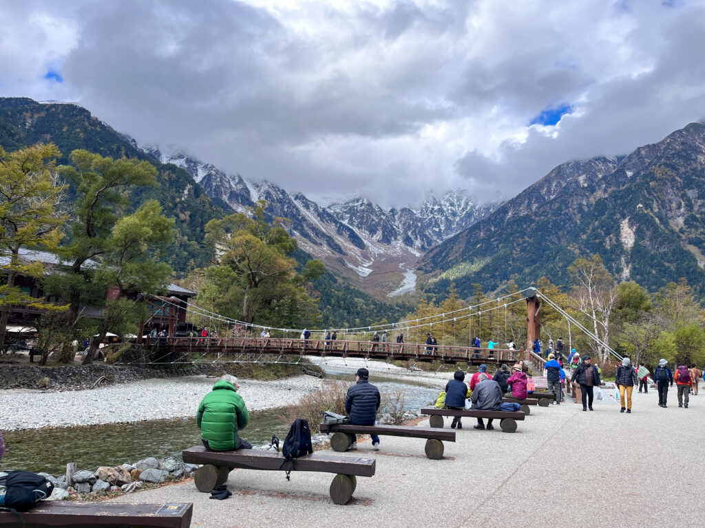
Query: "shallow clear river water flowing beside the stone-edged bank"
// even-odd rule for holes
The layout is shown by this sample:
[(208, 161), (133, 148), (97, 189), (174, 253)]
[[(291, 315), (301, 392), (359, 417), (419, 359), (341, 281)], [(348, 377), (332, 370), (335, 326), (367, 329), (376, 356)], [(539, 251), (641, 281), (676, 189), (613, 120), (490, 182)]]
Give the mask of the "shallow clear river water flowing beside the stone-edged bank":
[[(353, 375), (342, 370), (326, 369), (332, 379), (353, 382)], [(405, 410), (418, 409), (434, 401), (438, 389), (427, 384), (406, 382), (389, 377), (370, 378), (380, 391), (401, 389)], [(278, 415), (281, 410), (251, 413), (250, 425), (243, 438), (253, 445), (265, 444), (276, 434), (286, 436), (288, 425)], [(0, 467), (59, 475), (66, 472), (66, 463), (75, 462), (79, 469), (94, 469), (101, 465), (135, 463), (154, 456), (164, 458), (180, 455), (184, 448), (200, 444), (200, 432), (195, 418), (152, 420), (129, 424), (91, 425), (62, 429), (27, 429), (3, 433), (7, 451)]]

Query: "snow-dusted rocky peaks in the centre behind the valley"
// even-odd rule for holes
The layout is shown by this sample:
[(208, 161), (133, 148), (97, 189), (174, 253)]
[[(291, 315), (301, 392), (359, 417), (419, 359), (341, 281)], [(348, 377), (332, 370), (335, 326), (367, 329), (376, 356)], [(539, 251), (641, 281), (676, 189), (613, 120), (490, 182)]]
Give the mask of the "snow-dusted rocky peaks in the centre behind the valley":
[(301, 249), (377, 294), (414, 291), (417, 260), (498, 206), (479, 206), (463, 191), (440, 199), (431, 195), (419, 208), (384, 209), (364, 198), (321, 206), (301, 193), (290, 193), (266, 180), (226, 174), (180, 151), (165, 154), (154, 147), (144, 151), (161, 163), (183, 168), (208, 196), (235, 211), (245, 212), (265, 200), (269, 219), (288, 219), (288, 230)]

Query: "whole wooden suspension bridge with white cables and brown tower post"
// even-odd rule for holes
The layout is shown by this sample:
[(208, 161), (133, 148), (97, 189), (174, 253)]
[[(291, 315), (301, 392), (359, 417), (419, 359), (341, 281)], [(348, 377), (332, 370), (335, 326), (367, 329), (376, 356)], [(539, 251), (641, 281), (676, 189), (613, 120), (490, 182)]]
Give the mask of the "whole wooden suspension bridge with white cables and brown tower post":
[[(609, 353), (618, 359), (621, 357), (615, 353), (599, 337), (590, 332), (580, 322), (575, 320), (563, 308), (553, 303), (551, 299), (541, 294), (535, 288), (525, 288), (515, 291), (505, 296), (477, 303), (447, 313), (430, 315), (425, 318), (417, 318), (386, 325), (371, 325), (367, 327), (355, 328), (331, 328), (331, 329), (310, 329), (309, 335), (319, 335), (321, 339), (304, 339), (303, 334), (306, 329), (277, 328), (266, 325), (257, 325), (248, 322), (226, 318), (223, 315), (213, 313), (200, 306), (188, 302), (188, 300), (173, 297), (150, 296), (149, 305), (152, 317), (142, 322), (140, 334), (137, 337), (138, 343), (147, 344), (153, 347), (157, 354), (152, 354), (150, 364), (188, 364), (206, 358), (223, 363), (240, 362), (280, 362), (286, 356), (290, 361), (291, 356), (299, 356), (298, 360), (304, 356), (338, 357), (338, 358), (364, 358), (374, 360), (407, 361), (411, 364), (421, 362), (440, 362), (441, 364), (462, 364), (479, 365), (481, 363), (517, 363), (520, 360), (531, 362), (539, 369), (545, 363), (545, 359), (537, 356), (531, 350), (534, 339), (541, 337), (541, 306), (542, 301), (546, 306), (558, 311), (568, 322), (569, 336), (570, 328), (576, 327), (580, 332), (586, 334), (590, 339), (603, 346)], [(458, 320), (477, 317), (478, 334), (482, 331), (482, 314), (504, 310), (505, 332), (507, 308), (515, 303), (526, 303), (527, 306), (527, 347), (515, 348), (481, 348), (472, 346), (421, 344), (421, 343), (393, 343), (379, 342), (372, 340), (348, 339), (357, 335), (368, 335), (372, 332), (389, 332), (391, 336), (395, 332), (406, 332), (408, 335), (411, 329), (422, 327), (433, 328), (433, 325), (443, 328), (446, 325), (455, 325)], [(178, 322), (183, 322), (187, 318), (207, 322), (209, 328), (220, 327), (223, 336), (194, 336), (179, 335), (177, 332)], [(500, 318), (496, 320), (496, 332), (500, 331)], [(145, 325), (166, 325), (168, 332), (166, 336), (149, 337), (143, 336)], [(260, 331), (279, 334), (281, 337), (257, 337)], [(494, 332), (494, 329), (491, 329)], [(220, 333), (220, 332), (219, 332)], [(468, 332), (470, 341), (471, 332)], [(252, 334), (255, 334), (253, 336)], [(329, 334), (340, 334), (342, 339), (330, 339)], [(506, 334), (505, 334), (506, 339)], [(569, 339), (570, 347), (570, 339)], [(194, 359), (195, 358), (195, 359)], [(254, 359), (253, 359), (254, 358)]]

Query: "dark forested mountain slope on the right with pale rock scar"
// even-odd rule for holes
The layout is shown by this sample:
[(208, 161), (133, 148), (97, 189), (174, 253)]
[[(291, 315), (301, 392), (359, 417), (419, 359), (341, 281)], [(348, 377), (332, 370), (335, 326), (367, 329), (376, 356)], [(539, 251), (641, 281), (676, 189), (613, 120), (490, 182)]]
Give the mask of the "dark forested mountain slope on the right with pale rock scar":
[(685, 277), (705, 294), (705, 124), (628, 156), (558, 165), (419, 262), (429, 291), (454, 282), (501, 289), (546, 276), (567, 284), (577, 256), (598, 253), (615, 278), (655, 291)]

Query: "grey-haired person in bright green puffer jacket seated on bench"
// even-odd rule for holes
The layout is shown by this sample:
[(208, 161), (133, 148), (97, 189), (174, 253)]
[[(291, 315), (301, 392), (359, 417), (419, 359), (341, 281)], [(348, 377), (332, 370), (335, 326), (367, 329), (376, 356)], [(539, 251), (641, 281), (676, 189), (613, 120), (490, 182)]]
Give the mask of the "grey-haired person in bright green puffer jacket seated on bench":
[(238, 378), (226, 374), (198, 406), (196, 425), (201, 429), (203, 445), (212, 451), (252, 449), (249, 442), (238, 436), (238, 431), (245, 429), (248, 422), (250, 413), (238, 394)]

